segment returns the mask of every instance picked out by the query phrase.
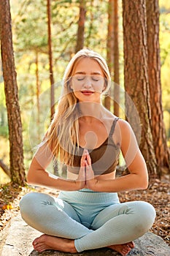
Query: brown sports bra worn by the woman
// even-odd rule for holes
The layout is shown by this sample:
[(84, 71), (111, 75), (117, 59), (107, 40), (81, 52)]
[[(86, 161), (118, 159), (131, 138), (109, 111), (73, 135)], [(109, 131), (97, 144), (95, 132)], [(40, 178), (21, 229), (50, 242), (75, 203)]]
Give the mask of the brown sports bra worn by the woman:
[[(108, 138), (98, 146), (98, 148), (89, 149), (88, 152), (90, 154), (92, 168), (95, 175), (102, 175), (107, 173), (112, 173), (115, 171), (118, 157), (120, 154), (120, 146), (115, 145), (112, 135), (115, 131), (115, 125), (119, 118), (115, 118), (112, 127), (109, 132)], [(73, 165), (69, 166), (69, 172), (78, 174), (80, 170), (80, 160), (82, 157), (82, 153), (84, 148), (77, 147), (76, 152), (74, 154)]]

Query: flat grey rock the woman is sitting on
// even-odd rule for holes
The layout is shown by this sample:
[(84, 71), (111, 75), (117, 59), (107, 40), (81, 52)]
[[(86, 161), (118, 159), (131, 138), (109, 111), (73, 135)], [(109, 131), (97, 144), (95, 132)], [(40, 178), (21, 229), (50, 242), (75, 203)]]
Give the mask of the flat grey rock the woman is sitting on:
[[(65, 253), (58, 251), (45, 251), (42, 253), (34, 251), (31, 243), (41, 233), (29, 227), (20, 215), (14, 217), (4, 230), (0, 233), (0, 255), (1, 256), (118, 256), (111, 249), (95, 249), (80, 253)], [(170, 256), (170, 247), (159, 236), (146, 233), (135, 241), (135, 248), (128, 254), (136, 256)]]

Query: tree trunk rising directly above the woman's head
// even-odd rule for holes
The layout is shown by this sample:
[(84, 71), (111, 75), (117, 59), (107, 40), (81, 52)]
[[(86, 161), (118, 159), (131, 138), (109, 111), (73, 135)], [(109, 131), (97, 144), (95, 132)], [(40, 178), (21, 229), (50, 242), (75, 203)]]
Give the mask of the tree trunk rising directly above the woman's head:
[(84, 47), (84, 36), (85, 36), (85, 0), (80, 0), (80, 15), (77, 29), (77, 45), (75, 52), (81, 50)]

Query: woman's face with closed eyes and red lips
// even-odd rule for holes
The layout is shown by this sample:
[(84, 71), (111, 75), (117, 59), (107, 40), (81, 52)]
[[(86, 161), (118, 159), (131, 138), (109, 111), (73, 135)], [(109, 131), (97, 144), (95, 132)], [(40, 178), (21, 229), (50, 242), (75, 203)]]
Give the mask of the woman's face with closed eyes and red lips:
[(74, 69), (71, 88), (79, 102), (100, 102), (105, 89), (104, 79), (104, 72), (98, 62), (84, 58)]

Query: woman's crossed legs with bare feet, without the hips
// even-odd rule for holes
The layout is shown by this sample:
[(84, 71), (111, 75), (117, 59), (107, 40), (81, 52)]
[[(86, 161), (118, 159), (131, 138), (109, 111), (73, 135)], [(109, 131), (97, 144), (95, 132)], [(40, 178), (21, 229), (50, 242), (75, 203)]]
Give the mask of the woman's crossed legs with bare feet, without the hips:
[[(149, 204), (131, 202), (105, 208), (93, 220), (90, 230), (80, 223), (68, 203), (45, 194), (31, 194), (21, 200), (20, 211), (28, 225), (46, 234), (33, 242), (38, 252), (55, 249), (74, 253), (108, 246), (127, 255), (134, 248), (132, 241), (147, 232), (153, 221)], [(144, 214), (147, 211), (150, 214)]]

